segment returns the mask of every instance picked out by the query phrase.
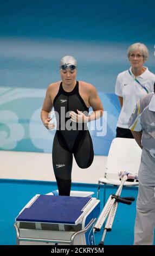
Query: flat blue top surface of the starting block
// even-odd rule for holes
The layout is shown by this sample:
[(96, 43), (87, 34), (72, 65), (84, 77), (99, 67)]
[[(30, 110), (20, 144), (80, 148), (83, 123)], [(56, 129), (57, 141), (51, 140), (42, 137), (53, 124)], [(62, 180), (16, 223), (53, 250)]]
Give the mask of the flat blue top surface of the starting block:
[(16, 221), (75, 224), (90, 200), (89, 197), (39, 195)]

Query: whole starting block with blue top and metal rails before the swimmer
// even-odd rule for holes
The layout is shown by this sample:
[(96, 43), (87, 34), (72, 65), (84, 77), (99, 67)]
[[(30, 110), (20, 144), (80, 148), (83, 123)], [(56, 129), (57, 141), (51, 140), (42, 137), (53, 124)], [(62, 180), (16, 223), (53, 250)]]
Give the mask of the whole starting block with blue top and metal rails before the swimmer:
[(15, 220), (17, 245), (95, 245), (100, 201), (36, 194)]

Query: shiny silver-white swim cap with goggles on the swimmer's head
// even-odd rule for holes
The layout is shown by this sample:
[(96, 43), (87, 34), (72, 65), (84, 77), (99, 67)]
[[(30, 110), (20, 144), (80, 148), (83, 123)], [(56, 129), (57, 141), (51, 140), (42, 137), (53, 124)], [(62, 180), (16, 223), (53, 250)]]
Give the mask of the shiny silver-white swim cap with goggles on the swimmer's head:
[(76, 62), (76, 59), (74, 59), (74, 57), (72, 57), (72, 56), (64, 56), (60, 60), (59, 68), (60, 69), (70, 68), (72, 70), (78, 69), (78, 63)]

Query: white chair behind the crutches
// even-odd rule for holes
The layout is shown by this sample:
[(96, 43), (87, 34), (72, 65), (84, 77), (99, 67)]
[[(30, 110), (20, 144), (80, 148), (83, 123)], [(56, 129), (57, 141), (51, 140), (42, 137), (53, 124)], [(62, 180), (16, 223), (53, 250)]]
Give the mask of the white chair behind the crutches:
[[(98, 182), (97, 198), (100, 194), (100, 185), (104, 184), (104, 205), (106, 196), (106, 184), (120, 185), (119, 171), (138, 174), (141, 160), (141, 149), (135, 139), (114, 138), (109, 149), (104, 178)], [(125, 181), (124, 186), (138, 186), (137, 181)]]

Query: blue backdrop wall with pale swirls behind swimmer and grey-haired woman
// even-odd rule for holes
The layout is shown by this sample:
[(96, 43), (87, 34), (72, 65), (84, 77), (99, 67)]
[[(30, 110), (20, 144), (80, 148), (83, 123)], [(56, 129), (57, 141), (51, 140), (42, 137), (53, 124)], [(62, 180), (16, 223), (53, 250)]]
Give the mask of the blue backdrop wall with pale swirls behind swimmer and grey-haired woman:
[(107, 115), (104, 132), (91, 131), (95, 154), (107, 155), (120, 112), (114, 95), (128, 69), (127, 48), (147, 45), (154, 67), (154, 8), (146, 1), (8, 0), (0, 8), (0, 149), (50, 152), (55, 131), (40, 120), (46, 88), (60, 80), (59, 61), (73, 55), (78, 80), (92, 83)]

